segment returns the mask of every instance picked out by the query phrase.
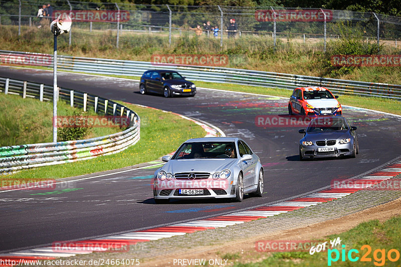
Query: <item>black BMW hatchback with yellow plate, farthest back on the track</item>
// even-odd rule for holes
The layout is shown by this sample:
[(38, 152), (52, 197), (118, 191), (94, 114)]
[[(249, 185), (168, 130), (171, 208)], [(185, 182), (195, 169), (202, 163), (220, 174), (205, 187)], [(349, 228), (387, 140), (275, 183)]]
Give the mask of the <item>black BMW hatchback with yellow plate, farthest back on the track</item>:
[(142, 74), (139, 83), (141, 94), (147, 92), (161, 93), (165, 97), (172, 95), (194, 96), (196, 86), (193, 82), (185, 80), (178, 72), (174, 70), (147, 70)]

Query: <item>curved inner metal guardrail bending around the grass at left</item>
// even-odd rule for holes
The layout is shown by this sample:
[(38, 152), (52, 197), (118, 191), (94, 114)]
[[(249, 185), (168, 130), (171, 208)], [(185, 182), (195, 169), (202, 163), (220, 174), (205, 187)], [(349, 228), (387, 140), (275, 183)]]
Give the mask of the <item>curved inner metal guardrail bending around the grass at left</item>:
[[(42, 100), (53, 99), (53, 87), (0, 77), (0, 91), (21, 94)], [(124, 150), (140, 138), (140, 118), (131, 109), (114, 101), (84, 92), (60, 88), (59, 98), (71, 106), (94, 108), (104, 115), (124, 116), (130, 127), (109, 135), (50, 143), (34, 143), (0, 147), (0, 173), (25, 168), (55, 165), (108, 155)]]

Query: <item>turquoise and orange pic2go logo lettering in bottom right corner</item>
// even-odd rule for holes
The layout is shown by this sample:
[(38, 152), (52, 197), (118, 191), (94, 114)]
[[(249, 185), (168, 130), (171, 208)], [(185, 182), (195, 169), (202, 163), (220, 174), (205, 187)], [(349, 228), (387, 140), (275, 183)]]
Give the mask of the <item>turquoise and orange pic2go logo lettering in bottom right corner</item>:
[[(358, 249), (350, 249), (348, 250), (348, 253), (345, 251), (345, 245), (342, 245), (342, 249), (341, 249), (341, 261), (345, 261), (345, 256), (347, 257), (347, 259), (349, 261), (372, 261), (372, 258), (369, 257), (370, 252), (372, 251), (372, 248), (370, 247), (370, 245), (362, 245), (360, 247), (361, 252), (363, 250), (367, 250), (362, 257), (359, 259), (359, 257), (357, 256), (357, 254), (359, 253)], [(333, 254), (335, 255), (333, 258)], [(386, 256), (387, 259), (389, 261), (395, 262), (397, 260), (399, 260), (399, 251), (397, 249), (389, 249), (386, 251), (385, 249), (375, 249), (373, 251), (373, 264), (376, 266), (383, 266), (385, 264), (385, 260), (386, 260)], [(338, 249), (334, 248), (334, 249), (328, 249), (327, 250), (327, 265), (331, 266), (332, 262), (336, 262), (340, 259), (340, 251), (338, 251)]]

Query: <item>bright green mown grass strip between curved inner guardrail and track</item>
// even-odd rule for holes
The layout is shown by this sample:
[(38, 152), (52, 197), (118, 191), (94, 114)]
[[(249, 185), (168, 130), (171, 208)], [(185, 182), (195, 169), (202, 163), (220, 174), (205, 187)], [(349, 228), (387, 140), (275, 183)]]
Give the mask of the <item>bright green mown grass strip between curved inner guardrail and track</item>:
[(0, 179), (39, 181), (126, 167), (155, 160), (177, 149), (183, 141), (192, 137), (203, 137), (206, 134), (199, 125), (170, 112), (119, 102), (134, 110), (141, 118), (141, 138), (135, 145), (116, 154), (68, 164), (26, 169), (4, 175)]

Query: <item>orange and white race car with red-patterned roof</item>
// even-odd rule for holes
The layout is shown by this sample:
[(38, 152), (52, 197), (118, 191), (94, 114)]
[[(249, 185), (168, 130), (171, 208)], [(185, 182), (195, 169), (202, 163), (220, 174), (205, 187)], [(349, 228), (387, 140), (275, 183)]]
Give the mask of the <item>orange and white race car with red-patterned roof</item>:
[(288, 103), (290, 115), (341, 116), (342, 107), (334, 96), (324, 87), (295, 88)]

